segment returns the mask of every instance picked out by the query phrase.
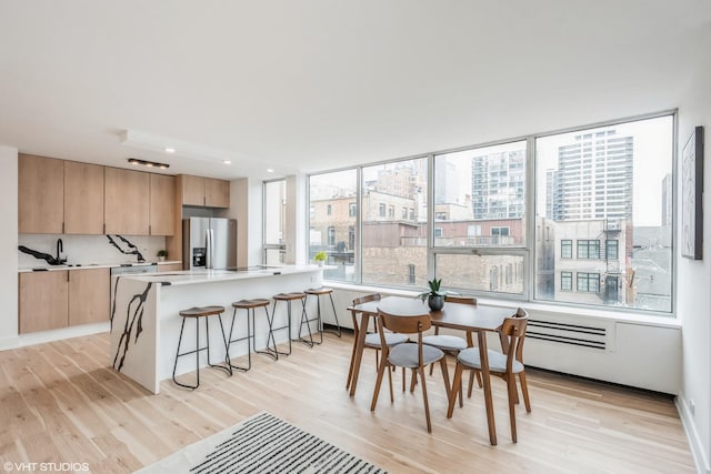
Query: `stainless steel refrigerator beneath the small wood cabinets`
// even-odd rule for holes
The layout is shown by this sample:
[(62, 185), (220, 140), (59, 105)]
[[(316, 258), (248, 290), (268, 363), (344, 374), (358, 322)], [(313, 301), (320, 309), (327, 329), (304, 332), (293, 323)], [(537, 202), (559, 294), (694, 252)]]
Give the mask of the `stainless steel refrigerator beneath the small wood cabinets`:
[(183, 219), (182, 260), (187, 270), (237, 268), (237, 221)]

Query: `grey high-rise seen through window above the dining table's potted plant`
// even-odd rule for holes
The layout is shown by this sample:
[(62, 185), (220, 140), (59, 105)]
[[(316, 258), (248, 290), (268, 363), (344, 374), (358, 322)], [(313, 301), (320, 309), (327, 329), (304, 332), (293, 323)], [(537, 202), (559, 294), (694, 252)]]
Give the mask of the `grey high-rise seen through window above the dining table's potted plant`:
[(524, 212), (525, 149), (471, 159), (474, 219), (519, 219)]

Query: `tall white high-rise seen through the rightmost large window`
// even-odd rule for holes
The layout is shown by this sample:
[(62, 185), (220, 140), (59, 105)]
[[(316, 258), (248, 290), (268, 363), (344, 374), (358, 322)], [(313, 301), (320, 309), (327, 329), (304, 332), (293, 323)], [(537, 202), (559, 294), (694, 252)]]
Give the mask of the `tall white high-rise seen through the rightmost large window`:
[(577, 135), (558, 149), (552, 181), (555, 221), (632, 218), (633, 137), (615, 130)]

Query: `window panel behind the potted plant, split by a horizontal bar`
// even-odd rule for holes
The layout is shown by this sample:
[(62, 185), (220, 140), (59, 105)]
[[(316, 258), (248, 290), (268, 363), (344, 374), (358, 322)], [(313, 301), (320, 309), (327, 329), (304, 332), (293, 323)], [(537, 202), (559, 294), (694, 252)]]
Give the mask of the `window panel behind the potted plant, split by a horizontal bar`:
[(434, 275), (455, 290), (523, 295), (525, 140), (433, 160)]

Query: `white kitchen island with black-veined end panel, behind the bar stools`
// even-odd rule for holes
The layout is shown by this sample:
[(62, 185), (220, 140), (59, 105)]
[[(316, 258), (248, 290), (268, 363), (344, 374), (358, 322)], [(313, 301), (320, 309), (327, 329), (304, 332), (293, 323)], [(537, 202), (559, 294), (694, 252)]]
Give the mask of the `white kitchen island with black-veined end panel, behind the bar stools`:
[[(114, 370), (134, 380), (152, 393), (159, 393), (160, 382), (172, 376), (181, 310), (192, 306), (221, 305), (226, 312), (222, 322), (226, 333), (232, 317), (232, 302), (242, 299), (271, 299), (277, 293), (304, 291), (321, 286), (323, 268), (316, 265), (284, 265), (241, 271), (193, 270), (158, 274), (116, 276), (111, 282), (111, 354)], [(313, 303), (316, 304), (316, 303)], [(301, 304), (292, 310), (291, 337), (297, 337), (301, 321)], [(270, 314), (271, 309), (269, 307)], [(309, 306), (307, 306), (309, 309)], [(309, 310), (309, 314), (313, 314)], [(247, 313), (238, 312), (233, 337), (247, 335)], [(274, 315), (274, 326), (287, 323), (286, 304)], [(312, 325), (312, 331), (316, 326)], [(217, 317), (210, 321), (210, 351), (212, 361), (224, 359), (224, 342)], [(306, 326), (304, 326), (306, 331)], [(200, 322), (201, 344), (204, 344), (204, 323)], [(256, 314), (254, 345), (267, 346), (269, 324), (263, 312)], [(288, 341), (287, 331), (274, 333), (277, 344)], [(191, 350), (196, 341), (196, 326), (186, 322), (181, 352)], [(242, 341), (230, 351), (232, 357), (247, 354)], [(200, 366), (207, 365), (207, 353), (200, 353)], [(180, 357), (177, 375), (196, 370), (194, 356)]]

